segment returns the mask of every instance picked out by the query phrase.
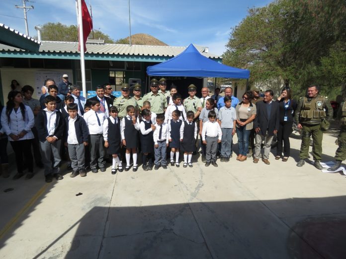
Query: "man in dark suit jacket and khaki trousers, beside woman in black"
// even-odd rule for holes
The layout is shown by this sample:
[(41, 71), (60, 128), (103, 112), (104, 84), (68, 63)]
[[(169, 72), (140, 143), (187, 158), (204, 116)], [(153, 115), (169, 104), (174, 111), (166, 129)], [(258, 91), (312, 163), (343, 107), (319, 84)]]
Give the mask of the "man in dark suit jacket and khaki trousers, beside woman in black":
[(259, 162), (260, 145), (264, 140), (264, 152), (262, 161), (269, 165), (270, 144), (274, 134), (279, 129), (279, 103), (273, 102), (273, 91), (266, 90), (264, 100), (256, 103), (257, 115), (254, 121), (255, 136), (255, 154), (254, 163)]

